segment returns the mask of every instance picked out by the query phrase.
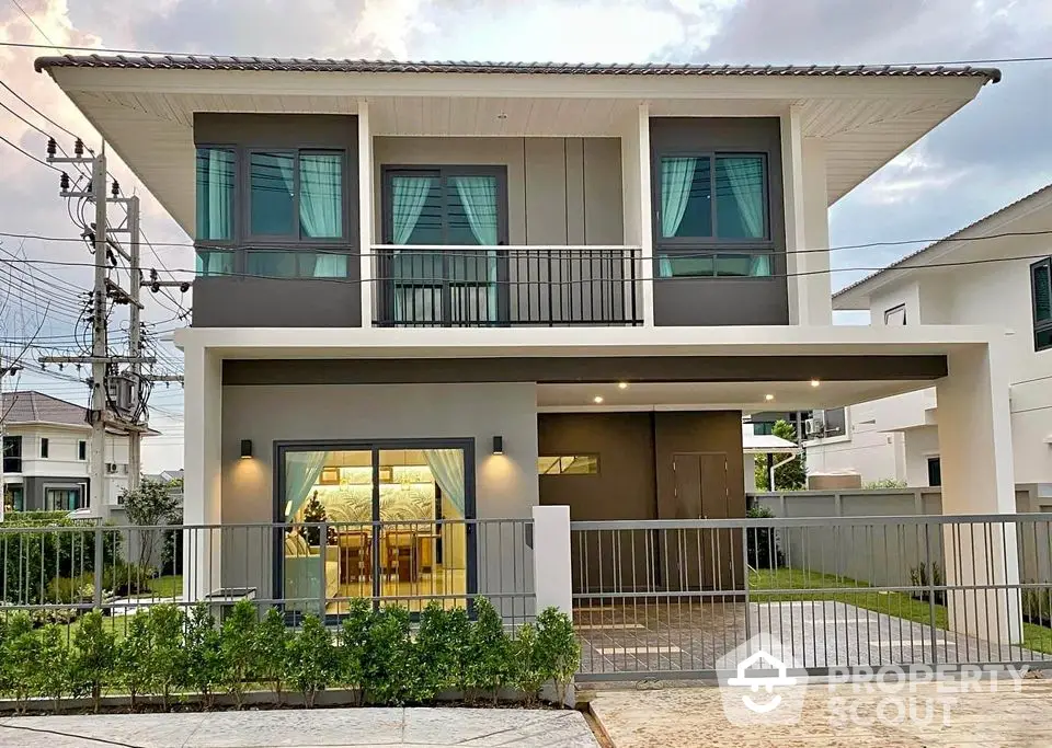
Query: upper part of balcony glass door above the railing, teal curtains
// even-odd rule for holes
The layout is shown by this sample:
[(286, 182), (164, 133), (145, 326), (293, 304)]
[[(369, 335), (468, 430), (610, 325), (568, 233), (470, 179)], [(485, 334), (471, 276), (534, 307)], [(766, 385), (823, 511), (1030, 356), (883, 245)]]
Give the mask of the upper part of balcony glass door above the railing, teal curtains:
[(494, 246), (506, 243), (506, 226), (502, 168), (385, 171), (386, 243)]

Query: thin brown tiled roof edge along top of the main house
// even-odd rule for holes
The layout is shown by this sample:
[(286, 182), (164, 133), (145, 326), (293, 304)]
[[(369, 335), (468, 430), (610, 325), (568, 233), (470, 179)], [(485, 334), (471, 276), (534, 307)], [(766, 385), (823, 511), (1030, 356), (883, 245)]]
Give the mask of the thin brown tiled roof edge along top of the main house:
[(572, 64), (572, 62), (472, 62), (315, 59), (296, 57), (222, 57), (217, 55), (61, 55), (39, 57), (37, 71), (48, 68), (130, 68), (150, 70), (275, 70), (299, 72), (445, 72), (519, 73), (561, 76), (847, 76), (913, 78), (985, 78), (996, 83), (1000, 70), (970, 66), (892, 65), (676, 65)]

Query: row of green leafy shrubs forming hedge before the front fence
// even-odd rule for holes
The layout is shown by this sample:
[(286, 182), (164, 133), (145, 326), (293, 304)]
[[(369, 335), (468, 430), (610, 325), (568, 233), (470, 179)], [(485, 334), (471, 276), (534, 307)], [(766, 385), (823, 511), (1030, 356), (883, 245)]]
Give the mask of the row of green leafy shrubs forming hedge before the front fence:
[(53, 700), (41, 702), (46, 709), (66, 697), (88, 697), (98, 711), (107, 692), (127, 695), (133, 711), (147, 695), (160, 697), (165, 710), (193, 695), (207, 710), (219, 693), (240, 709), (249, 690), (273, 691), (281, 704), (291, 689), (309, 709), (334, 687), (355, 691), (359, 705), (427, 703), (444, 691), (495, 702), (508, 689), (533, 703), (553, 682), (562, 703), (581, 660), (570, 619), (549, 608), (513, 637), (485, 598), (474, 611), (472, 621), (433, 601), (414, 628), (404, 608), (352, 600), (333, 632), (313, 615), (290, 630), (273, 608), (260, 619), (249, 600), (221, 626), (204, 603), (188, 614), (165, 603), (133, 615), (122, 638), (100, 613), (88, 613), (71, 643), (60, 628), (34, 630), (16, 613), (0, 621), (0, 694), (23, 712), (32, 699)]

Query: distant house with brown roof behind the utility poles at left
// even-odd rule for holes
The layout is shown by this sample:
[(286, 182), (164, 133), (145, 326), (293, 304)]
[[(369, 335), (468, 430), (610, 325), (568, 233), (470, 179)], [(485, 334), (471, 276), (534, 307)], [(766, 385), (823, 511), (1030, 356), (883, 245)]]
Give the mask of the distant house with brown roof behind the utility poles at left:
[[(88, 411), (42, 392), (4, 392), (3, 500), (15, 511), (65, 511), (88, 506), (91, 426)], [(128, 438), (106, 435), (105, 500), (128, 485)]]

